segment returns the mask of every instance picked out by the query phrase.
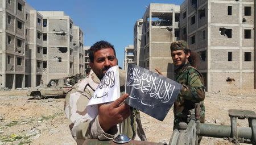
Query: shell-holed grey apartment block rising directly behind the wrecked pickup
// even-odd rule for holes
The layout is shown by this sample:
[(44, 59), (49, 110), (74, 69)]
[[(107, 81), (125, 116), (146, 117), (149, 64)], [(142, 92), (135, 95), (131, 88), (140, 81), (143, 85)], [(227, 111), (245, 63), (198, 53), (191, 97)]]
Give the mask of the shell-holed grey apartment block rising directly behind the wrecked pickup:
[(39, 13), (43, 15), (43, 81), (74, 74), (72, 19), (63, 11)]

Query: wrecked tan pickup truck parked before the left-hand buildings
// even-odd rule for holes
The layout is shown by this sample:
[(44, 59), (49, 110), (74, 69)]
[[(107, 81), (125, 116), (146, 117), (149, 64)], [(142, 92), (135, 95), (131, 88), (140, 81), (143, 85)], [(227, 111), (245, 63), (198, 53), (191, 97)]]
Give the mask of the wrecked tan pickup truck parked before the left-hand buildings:
[(34, 97), (35, 99), (42, 99), (48, 96), (65, 96), (73, 84), (70, 85), (64, 81), (64, 78), (52, 79), (47, 85), (28, 89), (27, 96)]

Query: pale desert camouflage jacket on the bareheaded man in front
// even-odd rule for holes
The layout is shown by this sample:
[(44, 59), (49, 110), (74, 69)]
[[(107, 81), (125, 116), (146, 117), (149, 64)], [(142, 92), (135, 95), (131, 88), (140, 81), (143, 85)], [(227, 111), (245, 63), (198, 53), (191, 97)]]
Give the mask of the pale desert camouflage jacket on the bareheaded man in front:
[[(126, 73), (119, 70), (120, 90), (122, 94), (125, 89), (125, 76)], [(69, 129), (77, 144), (82, 144), (85, 139), (108, 140), (118, 135), (117, 126), (112, 127), (108, 132), (104, 132), (98, 122), (98, 116), (91, 120), (86, 112), (86, 105), (93, 96), (99, 83), (100, 80), (96, 74), (90, 71), (89, 76), (75, 84), (65, 97), (65, 114), (69, 120)], [(138, 132), (138, 136), (141, 140), (146, 139), (144, 131), (142, 130), (139, 111), (133, 110), (130, 117), (127, 118), (123, 124), (124, 133), (129, 136), (129, 138), (134, 139), (136, 132)]]

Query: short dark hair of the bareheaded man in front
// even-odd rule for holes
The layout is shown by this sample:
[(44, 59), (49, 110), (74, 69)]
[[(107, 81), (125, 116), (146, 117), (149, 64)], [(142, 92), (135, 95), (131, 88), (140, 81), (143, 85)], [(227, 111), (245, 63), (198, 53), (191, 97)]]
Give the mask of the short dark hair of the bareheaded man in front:
[(94, 43), (90, 49), (89, 49), (89, 59), (90, 59), (90, 62), (93, 63), (94, 61), (94, 53), (96, 51), (99, 51), (100, 49), (105, 49), (105, 48), (112, 48), (113, 51), (114, 51), (114, 55), (115, 55), (115, 48), (114, 48), (114, 45), (110, 44), (109, 42), (106, 42), (104, 40), (101, 40), (100, 42), (96, 42)]

